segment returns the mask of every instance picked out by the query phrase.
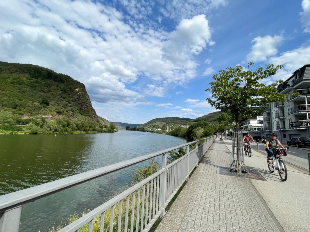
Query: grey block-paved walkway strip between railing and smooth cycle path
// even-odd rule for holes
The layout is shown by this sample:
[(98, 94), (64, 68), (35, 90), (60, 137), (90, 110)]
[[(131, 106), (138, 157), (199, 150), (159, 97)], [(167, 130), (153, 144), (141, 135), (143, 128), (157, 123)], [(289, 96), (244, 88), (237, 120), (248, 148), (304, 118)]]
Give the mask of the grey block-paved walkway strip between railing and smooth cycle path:
[[(248, 178), (219, 174), (219, 166), (229, 167), (231, 162), (232, 155), (226, 145), (215, 141), (200, 164), (205, 167), (192, 189), (193, 196), (179, 229), (175, 226), (169, 229), (166, 225), (162, 227), (165, 230), (159, 227), (157, 231), (278, 232)], [(178, 204), (177, 200), (174, 204)]]

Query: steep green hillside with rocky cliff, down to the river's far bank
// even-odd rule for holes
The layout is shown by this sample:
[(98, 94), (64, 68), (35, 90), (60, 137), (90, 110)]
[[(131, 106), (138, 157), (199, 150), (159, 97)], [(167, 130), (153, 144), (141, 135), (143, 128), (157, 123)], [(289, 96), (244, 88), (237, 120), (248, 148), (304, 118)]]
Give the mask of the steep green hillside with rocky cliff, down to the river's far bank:
[(1, 61), (0, 119), (0, 130), (4, 131), (14, 131), (14, 127), (8, 127), (12, 124), (32, 124), (42, 133), (107, 132), (110, 126), (97, 116), (81, 82), (48, 68)]

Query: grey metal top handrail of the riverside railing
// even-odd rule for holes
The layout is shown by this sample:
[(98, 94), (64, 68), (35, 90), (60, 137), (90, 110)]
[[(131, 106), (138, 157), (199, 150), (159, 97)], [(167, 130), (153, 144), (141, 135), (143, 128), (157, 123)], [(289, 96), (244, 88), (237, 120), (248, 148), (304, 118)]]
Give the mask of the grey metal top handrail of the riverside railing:
[(126, 168), (128, 166), (146, 161), (148, 159), (151, 159), (153, 157), (157, 157), (159, 155), (162, 155), (164, 153), (169, 153), (173, 150), (176, 150), (178, 148), (185, 147), (187, 145), (196, 143), (201, 140), (196, 140), (193, 142), (189, 142), (186, 144), (181, 144), (179, 146), (175, 146), (173, 148), (167, 148), (161, 151), (153, 152), (147, 155), (135, 157), (129, 160), (125, 160), (122, 162), (118, 162), (115, 164), (111, 164), (108, 166), (104, 166), (101, 168), (97, 168), (94, 170), (86, 171), (83, 173), (75, 174), (73, 176), (68, 176), (65, 178), (61, 178), (58, 180), (54, 180), (48, 183), (40, 184), (37, 186), (29, 187), (26, 189), (22, 189), (16, 192), (8, 193), (6, 195), (0, 196), (0, 212), (6, 210), (7, 208), (14, 208), (15, 206), (18, 206), (20, 204), (25, 204), (33, 200), (40, 199), (42, 197), (45, 197), (50, 194), (54, 194), (56, 192), (59, 192), (61, 190), (64, 190), (69, 187), (73, 187), (75, 185), (84, 183), (86, 181), (98, 178), (102, 175)]

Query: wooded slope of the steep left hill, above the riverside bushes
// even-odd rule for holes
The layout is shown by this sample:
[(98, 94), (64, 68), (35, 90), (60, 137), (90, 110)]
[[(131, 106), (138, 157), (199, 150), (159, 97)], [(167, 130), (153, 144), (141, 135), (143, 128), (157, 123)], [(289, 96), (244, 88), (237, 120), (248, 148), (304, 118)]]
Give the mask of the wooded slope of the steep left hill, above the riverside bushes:
[(0, 112), (20, 118), (83, 118), (101, 125), (110, 124), (98, 118), (84, 84), (32, 64), (0, 61)]

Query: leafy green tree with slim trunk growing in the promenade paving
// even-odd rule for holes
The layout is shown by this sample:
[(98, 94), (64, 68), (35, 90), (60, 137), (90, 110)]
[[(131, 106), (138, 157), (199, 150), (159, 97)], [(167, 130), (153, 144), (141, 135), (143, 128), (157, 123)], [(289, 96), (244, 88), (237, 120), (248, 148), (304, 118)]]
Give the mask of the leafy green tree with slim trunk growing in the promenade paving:
[[(284, 67), (268, 64), (266, 69), (263, 67), (251, 71), (249, 68), (254, 63), (248, 63), (248, 69), (243, 70), (241, 66), (228, 67), (226, 70), (219, 71), (213, 75), (214, 81), (210, 82), (212, 98), (207, 98), (211, 106), (222, 112), (230, 112), (236, 122), (237, 134), (240, 131), (240, 122), (244, 118), (262, 115), (265, 105), (269, 102), (284, 101), (288, 95), (277, 92), (278, 84), (283, 83), (277, 80), (275, 83), (265, 85), (263, 79), (267, 79)], [(209, 88), (206, 91), (210, 91)], [(241, 174), (240, 168), (240, 147), (241, 141), (237, 136), (237, 173)]]

